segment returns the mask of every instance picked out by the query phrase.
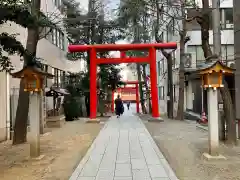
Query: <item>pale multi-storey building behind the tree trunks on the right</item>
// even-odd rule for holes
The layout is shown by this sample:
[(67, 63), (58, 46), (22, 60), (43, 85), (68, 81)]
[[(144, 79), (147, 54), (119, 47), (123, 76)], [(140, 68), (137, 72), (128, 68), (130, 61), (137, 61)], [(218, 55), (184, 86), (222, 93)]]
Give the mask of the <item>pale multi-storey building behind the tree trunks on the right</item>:
[[(171, 1), (173, 3), (173, 0)], [(175, 1), (176, 2), (176, 1)], [(201, 8), (201, 1), (197, 1)], [(168, 1), (169, 3), (169, 1)], [(162, 16), (162, 34), (164, 42), (179, 42), (179, 29), (181, 29), (181, 21), (173, 18), (176, 15), (174, 6), (165, 6), (165, 12), (168, 14)], [(221, 44), (222, 44), (222, 61), (228, 66), (234, 66), (234, 47), (233, 47), (233, 4), (232, 0), (221, 1)], [(167, 9), (168, 8), (168, 9)], [(192, 17), (192, 8), (186, 10), (187, 16)], [(178, 12), (179, 13), (179, 12)], [(178, 15), (179, 16), (179, 15)], [(211, 17), (211, 16), (210, 16)], [(211, 21), (211, 19), (210, 19)], [(209, 43), (213, 47), (213, 32), (210, 27)], [(185, 46), (186, 60), (185, 68), (196, 68), (204, 62), (204, 55), (201, 49), (201, 31), (197, 22), (193, 21), (187, 24), (187, 34), (190, 41)], [(179, 47), (172, 52), (173, 56), (173, 97), (174, 97), (174, 114), (177, 113), (178, 89), (179, 89), (179, 63), (180, 51)], [(161, 52), (157, 54), (157, 71), (158, 71), (158, 90), (159, 90), (159, 108), (161, 114), (167, 113), (168, 97), (168, 79), (167, 79), (167, 61)], [(185, 89), (185, 109), (201, 113), (201, 88), (200, 84), (188, 85), (190, 89)]]

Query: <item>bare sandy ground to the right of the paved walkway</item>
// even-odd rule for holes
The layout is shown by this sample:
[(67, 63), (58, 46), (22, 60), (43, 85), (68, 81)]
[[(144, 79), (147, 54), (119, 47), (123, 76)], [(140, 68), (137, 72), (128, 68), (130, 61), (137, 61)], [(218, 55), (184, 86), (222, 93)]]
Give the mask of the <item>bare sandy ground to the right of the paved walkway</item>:
[(180, 180), (240, 180), (239, 146), (221, 144), (220, 153), (227, 160), (206, 161), (202, 154), (208, 151), (208, 134), (195, 122), (154, 123), (147, 122), (146, 115), (140, 118)]

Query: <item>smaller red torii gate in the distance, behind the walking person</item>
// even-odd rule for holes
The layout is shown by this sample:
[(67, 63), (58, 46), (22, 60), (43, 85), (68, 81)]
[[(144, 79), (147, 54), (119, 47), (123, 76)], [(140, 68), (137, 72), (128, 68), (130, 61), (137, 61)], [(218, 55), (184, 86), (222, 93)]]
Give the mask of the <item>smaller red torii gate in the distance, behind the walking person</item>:
[[(135, 85), (135, 87), (122, 87), (122, 88), (117, 88), (117, 90), (134, 90), (136, 93), (136, 111), (137, 113), (139, 113), (139, 102), (140, 102), (140, 98), (139, 98), (139, 82), (138, 81), (125, 81), (124, 82), (126, 85)], [(112, 92), (112, 112), (114, 112), (114, 91)]]

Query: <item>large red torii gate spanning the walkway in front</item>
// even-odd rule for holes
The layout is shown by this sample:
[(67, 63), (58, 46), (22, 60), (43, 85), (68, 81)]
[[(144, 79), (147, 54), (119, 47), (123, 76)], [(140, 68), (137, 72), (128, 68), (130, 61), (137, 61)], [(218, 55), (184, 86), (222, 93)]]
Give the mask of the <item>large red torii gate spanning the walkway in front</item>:
[[(177, 43), (155, 43), (155, 44), (96, 44), (96, 45), (70, 45), (69, 52), (90, 52), (90, 119), (97, 117), (97, 65), (98, 64), (120, 64), (120, 63), (149, 63), (152, 95), (152, 116), (159, 117), (158, 112), (158, 90), (157, 90), (157, 68), (156, 49), (176, 49)], [(128, 50), (148, 50), (146, 57), (121, 57), (121, 58), (98, 58), (97, 52)]]

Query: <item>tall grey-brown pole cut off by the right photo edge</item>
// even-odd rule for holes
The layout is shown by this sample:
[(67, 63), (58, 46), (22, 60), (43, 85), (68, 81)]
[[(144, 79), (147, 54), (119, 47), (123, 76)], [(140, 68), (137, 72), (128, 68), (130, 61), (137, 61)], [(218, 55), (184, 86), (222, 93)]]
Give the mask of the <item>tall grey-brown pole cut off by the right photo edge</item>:
[[(236, 120), (240, 121), (240, 1), (233, 0), (233, 22), (234, 22), (234, 59), (235, 59), (235, 109)], [(238, 137), (240, 137), (240, 126), (238, 124)]]

